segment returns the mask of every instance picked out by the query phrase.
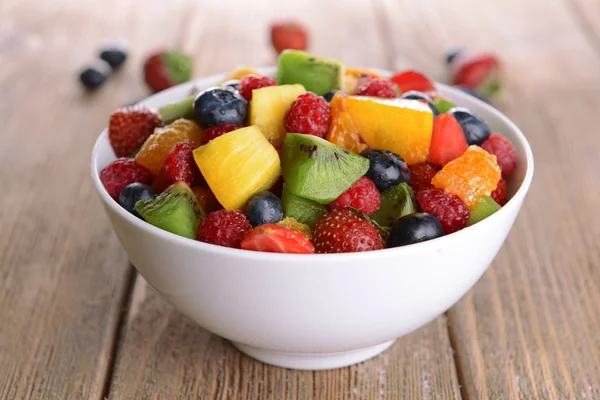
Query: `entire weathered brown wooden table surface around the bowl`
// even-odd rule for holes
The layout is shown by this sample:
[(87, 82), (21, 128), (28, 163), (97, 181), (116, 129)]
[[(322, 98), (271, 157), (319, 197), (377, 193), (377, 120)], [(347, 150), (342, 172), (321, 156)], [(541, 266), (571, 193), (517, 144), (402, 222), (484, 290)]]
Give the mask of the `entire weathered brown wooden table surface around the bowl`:
[[(501, 109), (536, 157), (473, 290), (333, 371), (261, 364), (175, 312), (129, 265), (89, 176), (111, 111), (147, 95), (148, 51), (193, 54), (196, 77), (272, 64), (267, 27), (285, 16), (346, 65), (443, 80), (449, 46), (498, 51)], [(127, 65), (85, 94), (78, 68), (115, 36)], [(0, 0), (0, 65), (1, 399), (600, 399), (599, 2)]]

